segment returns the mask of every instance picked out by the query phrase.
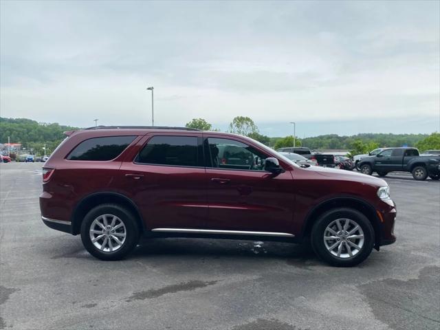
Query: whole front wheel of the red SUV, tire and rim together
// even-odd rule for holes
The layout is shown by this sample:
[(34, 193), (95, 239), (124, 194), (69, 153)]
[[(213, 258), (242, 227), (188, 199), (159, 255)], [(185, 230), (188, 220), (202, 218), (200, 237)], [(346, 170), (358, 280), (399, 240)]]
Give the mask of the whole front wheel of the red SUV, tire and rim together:
[(311, 230), (311, 245), (320, 259), (334, 266), (362, 263), (373, 250), (375, 233), (358, 210), (335, 208), (322, 214)]

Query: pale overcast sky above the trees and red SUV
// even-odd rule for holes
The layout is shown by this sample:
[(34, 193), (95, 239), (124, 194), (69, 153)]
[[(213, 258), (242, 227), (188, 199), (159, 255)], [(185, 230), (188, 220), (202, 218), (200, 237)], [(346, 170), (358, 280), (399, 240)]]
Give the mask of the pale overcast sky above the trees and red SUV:
[(0, 1), (2, 117), (440, 130), (440, 1)]

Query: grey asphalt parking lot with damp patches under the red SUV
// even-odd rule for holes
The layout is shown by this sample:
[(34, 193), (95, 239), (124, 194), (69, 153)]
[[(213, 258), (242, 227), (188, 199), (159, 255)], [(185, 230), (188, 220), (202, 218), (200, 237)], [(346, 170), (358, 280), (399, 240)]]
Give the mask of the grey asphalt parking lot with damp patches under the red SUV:
[(0, 164), (0, 329), (439, 329), (440, 182), (386, 178), (397, 243), (358, 267), (304, 245), (142, 241), (90, 256), (40, 219), (41, 164)]

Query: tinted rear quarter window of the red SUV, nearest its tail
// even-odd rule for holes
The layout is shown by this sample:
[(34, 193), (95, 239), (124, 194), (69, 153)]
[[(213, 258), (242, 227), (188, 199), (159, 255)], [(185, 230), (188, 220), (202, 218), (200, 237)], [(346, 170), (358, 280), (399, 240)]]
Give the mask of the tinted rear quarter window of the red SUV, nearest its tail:
[(78, 144), (67, 160), (105, 161), (118, 157), (136, 136), (94, 137)]

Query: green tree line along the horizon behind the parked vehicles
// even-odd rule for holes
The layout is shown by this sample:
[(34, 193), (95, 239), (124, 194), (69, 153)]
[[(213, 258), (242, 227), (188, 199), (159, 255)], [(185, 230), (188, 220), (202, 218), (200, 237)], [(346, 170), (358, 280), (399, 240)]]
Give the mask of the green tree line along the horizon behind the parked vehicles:
[[(187, 122), (186, 127), (201, 129), (203, 131), (219, 131), (203, 118), (194, 118)], [(28, 151), (34, 150), (37, 155), (43, 153), (46, 144), (47, 153), (50, 153), (64, 139), (64, 131), (78, 129), (77, 127), (60, 125), (57, 123), (36, 122), (26, 118), (1, 118), (0, 117), (0, 142), (10, 141), (21, 143)], [(277, 149), (284, 146), (293, 146), (294, 137), (268, 137), (259, 131), (255, 122), (244, 116), (232, 119), (228, 132), (245, 135), (257, 140), (271, 148)], [(314, 149), (343, 149), (351, 151), (351, 155), (366, 153), (377, 147), (386, 146), (416, 146), (421, 151), (440, 149), (440, 133), (428, 134), (391, 134), (391, 133), (361, 133), (351, 136), (336, 134), (319, 135), (295, 139), (296, 146), (307, 146)]]

